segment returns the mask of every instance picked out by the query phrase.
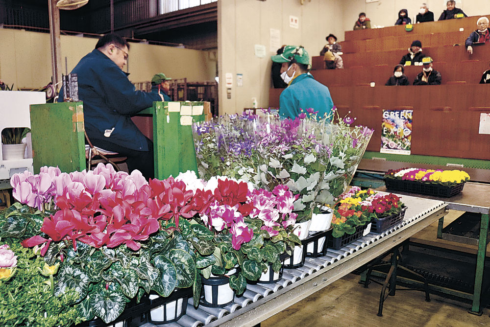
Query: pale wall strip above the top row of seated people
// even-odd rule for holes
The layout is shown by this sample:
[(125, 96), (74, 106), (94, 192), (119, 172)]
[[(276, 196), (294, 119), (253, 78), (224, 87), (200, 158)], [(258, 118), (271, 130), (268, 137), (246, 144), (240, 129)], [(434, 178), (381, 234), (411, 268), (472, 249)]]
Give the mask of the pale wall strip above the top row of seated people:
[[(344, 0), (343, 29), (352, 30), (360, 12), (365, 12), (371, 20), (371, 26), (392, 26), (398, 19), (398, 11), (407, 9), (408, 15), (415, 21), (415, 16), (422, 3), (427, 3), (429, 10), (434, 13), (437, 21), (446, 9), (446, 0), (378, 0), (366, 3), (366, 0)], [(463, 9), (466, 15), (476, 16), (490, 13), (490, 1), (456, 0), (456, 7)], [(476, 28), (476, 22), (475, 22)]]

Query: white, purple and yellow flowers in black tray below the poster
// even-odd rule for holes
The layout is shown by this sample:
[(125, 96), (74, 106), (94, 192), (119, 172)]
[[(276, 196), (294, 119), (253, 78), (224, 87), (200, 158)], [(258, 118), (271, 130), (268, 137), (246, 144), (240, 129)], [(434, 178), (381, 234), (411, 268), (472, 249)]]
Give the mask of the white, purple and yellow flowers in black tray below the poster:
[(470, 177), (463, 170), (400, 168), (388, 170), (385, 178), (402, 181), (417, 181), (423, 183), (440, 184), (444, 186), (455, 186), (469, 181)]

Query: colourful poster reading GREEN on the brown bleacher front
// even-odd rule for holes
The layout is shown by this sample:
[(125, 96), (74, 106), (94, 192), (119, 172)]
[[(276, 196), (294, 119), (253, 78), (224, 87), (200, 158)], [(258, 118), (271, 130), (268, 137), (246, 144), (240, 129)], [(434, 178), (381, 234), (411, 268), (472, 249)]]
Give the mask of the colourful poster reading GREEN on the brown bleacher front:
[(410, 155), (413, 110), (383, 110), (381, 153)]

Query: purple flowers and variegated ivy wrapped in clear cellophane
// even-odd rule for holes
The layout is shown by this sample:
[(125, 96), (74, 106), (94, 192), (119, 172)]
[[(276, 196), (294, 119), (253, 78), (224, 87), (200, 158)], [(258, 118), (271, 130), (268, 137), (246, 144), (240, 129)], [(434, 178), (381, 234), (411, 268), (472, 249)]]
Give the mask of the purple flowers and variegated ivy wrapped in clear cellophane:
[[(367, 127), (351, 127), (354, 118), (333, 116), (331, 122), (332, 117), (317, 117), (317, 112), (308, 109), (294, 120), (267, 113), (196, 123), (199, 174), (228, 173), (268, 190), (287, 185), (299, 194), (294, 202), (298, 222), (308, 220), (317, 204), (334, 204), (343, 193), (372, 135)], [(233, 132), (225, 137), (223, 130)]]

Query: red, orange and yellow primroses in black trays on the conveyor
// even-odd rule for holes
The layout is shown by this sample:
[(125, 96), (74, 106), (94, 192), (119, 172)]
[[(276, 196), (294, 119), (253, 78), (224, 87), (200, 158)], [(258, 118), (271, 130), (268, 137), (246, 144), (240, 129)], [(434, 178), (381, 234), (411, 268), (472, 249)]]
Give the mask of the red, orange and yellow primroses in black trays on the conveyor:
[(395, 194), (384, 194), (370, 188), (362, 190), (360, 187), (351, 187), (339, 197), (334, 206), (332, 236), (354, 234), (357, 226), (398, 213), (404, 207), (400, 197)]

